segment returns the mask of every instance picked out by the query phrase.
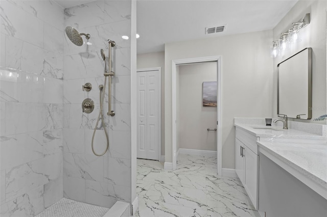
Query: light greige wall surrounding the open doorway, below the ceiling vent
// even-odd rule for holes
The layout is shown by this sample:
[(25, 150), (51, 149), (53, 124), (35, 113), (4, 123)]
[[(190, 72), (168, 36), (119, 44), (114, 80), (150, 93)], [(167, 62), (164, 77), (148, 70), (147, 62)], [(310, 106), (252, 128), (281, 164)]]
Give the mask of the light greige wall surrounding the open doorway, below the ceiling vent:
[(222, 167), (235, 168), (233, 118), (272, 116), (271, 41), (272, 31), (262, 31), (165, 45), (166, 162), (172, 162), (171, 61), (222, 56)]

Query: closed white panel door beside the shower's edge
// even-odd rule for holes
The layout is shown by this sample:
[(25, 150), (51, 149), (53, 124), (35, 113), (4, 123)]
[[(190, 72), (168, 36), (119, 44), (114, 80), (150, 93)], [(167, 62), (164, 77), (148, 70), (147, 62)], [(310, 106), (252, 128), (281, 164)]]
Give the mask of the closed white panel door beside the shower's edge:
[(158, 70), (137, 72), (137, 157), (159, 159), (161, 87)]

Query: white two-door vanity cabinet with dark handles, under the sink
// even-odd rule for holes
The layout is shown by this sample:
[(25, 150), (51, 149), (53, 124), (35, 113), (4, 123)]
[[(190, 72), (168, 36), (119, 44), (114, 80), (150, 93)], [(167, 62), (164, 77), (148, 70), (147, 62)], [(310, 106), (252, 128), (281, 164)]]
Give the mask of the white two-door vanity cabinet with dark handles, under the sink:
[(236, 173), (255, 209), (259, 208), (259, 151), (260, 137), (236, 127)]

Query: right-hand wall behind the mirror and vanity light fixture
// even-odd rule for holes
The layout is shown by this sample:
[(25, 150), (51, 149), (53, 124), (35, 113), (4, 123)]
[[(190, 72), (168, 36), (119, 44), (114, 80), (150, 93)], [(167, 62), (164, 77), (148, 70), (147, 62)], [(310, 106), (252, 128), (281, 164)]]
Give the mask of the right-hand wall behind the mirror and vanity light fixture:
[[(273, 116), (277, 117), (277, 64), (294, 55), (296, 52), (312, 47), (312, 119), (326, 114), (326, 1), (298, 1), (289, 13), (273, 29), (273, 40), (278, 40), (281, 33), (286, 32), (306, 13), (310, 13), (311, 21), (300, 31), (301, 41), (293, 44), (285, 51), (283, 57), (274, 59), (274, 91)], [(324, 121), (298, 120), (326, 124)]]

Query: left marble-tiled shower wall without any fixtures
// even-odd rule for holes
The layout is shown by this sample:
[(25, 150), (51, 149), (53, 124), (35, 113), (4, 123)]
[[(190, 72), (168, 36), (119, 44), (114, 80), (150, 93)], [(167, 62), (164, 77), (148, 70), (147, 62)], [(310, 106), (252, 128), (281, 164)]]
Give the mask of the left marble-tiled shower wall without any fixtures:
[(1, 1), (1, 216), (63, 197), (63, 9)]

